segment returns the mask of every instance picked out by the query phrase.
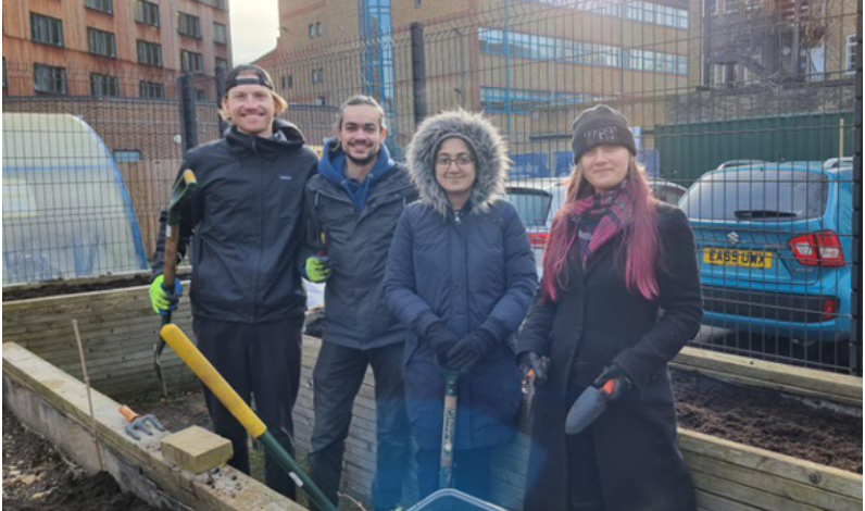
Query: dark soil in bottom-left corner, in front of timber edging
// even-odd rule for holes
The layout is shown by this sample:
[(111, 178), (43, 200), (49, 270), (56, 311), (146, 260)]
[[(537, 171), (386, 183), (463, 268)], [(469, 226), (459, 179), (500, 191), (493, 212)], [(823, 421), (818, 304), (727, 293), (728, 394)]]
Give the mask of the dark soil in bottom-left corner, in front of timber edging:
[(88, 476), (51, 443), (3, 411), (3, 509), (14, 511), (151, 511), (105, 472)]

